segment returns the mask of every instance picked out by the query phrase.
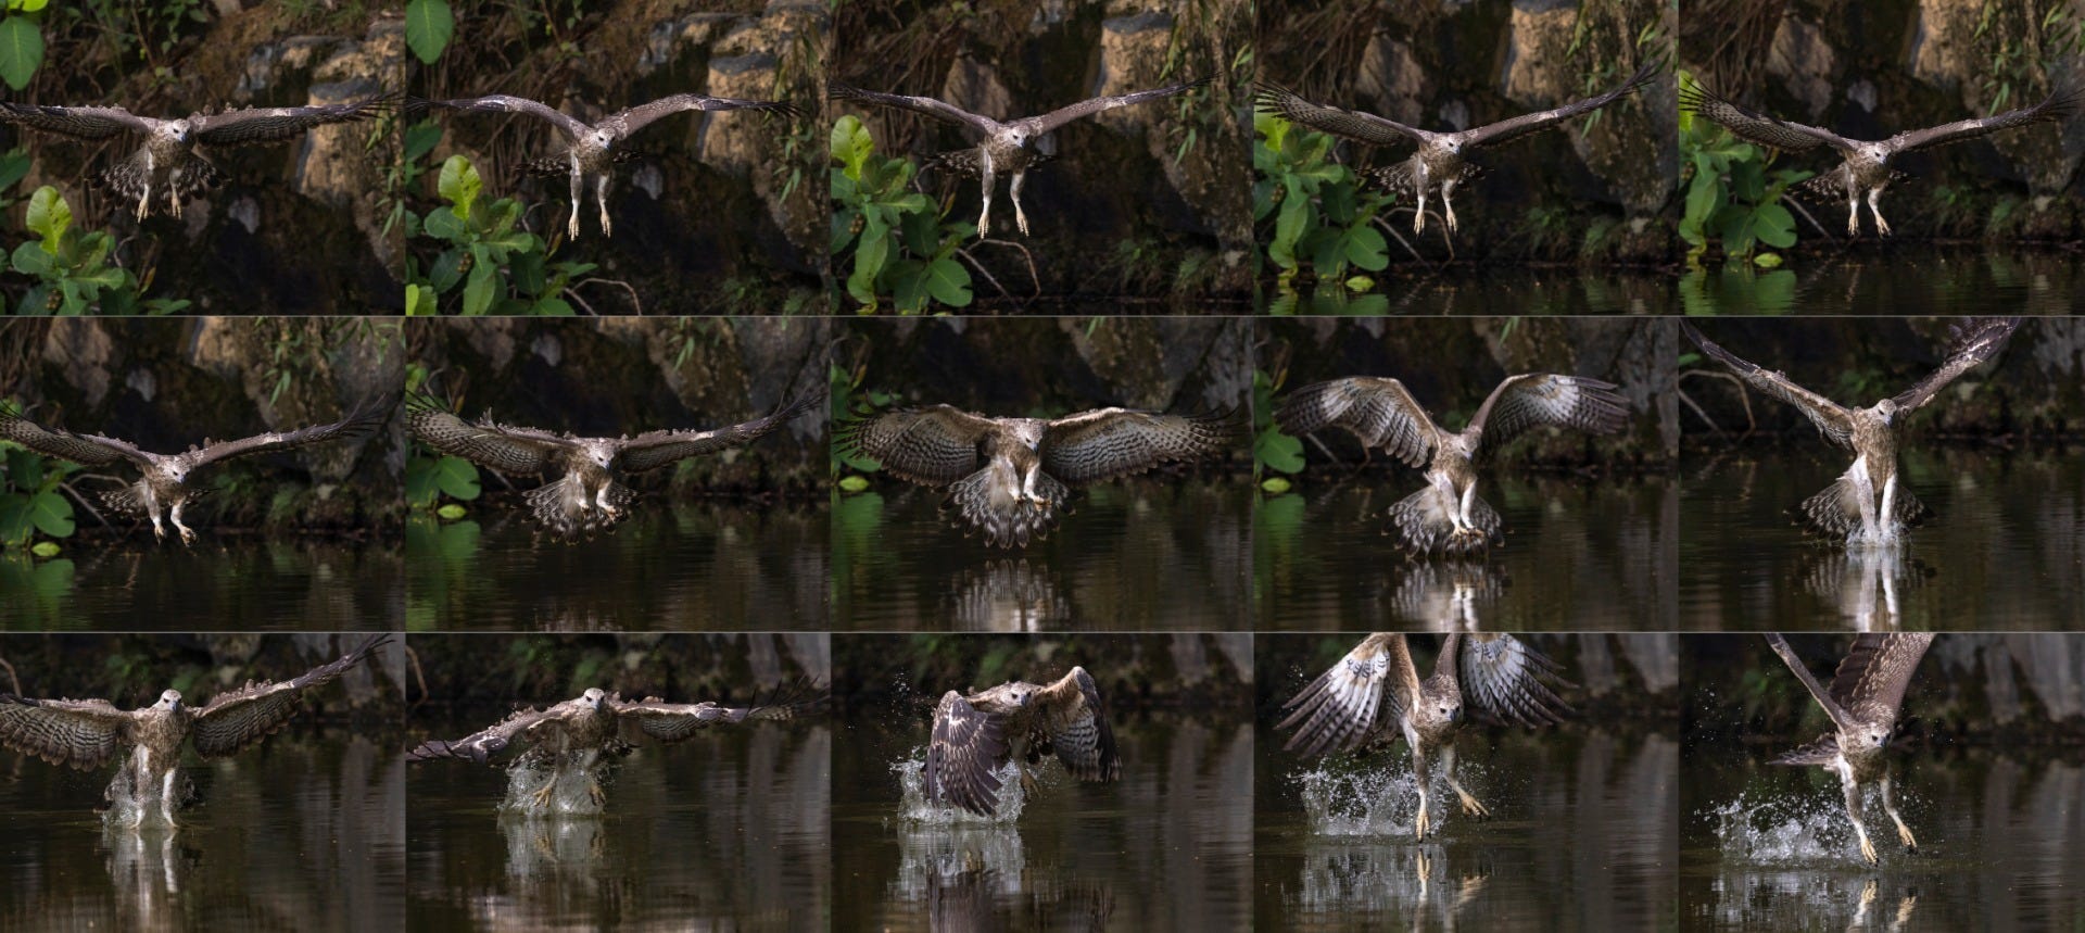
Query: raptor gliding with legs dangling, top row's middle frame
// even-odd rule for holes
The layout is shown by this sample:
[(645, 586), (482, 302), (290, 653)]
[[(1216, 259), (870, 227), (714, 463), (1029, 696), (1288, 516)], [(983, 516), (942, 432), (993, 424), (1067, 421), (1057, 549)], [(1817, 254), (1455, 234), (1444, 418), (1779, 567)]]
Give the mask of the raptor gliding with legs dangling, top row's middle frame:
[(1028, 236), (1028, 213), (1022, 211), (1022, 184), (1028, 182), (1028, 169), (1057, 157), (1057, 138), (1051, 136), (1057, 131), (1057, 127), (1063, 127), (1065, 123), (1072, 123), (1074, 119), (1080, 117), (1093, 117), (1097, 113), (1113, 111), (1118, 106), (1170, 98), (1174, 94), (1182, 94), (1193, 88), (1201, 88), (1205, 83), (1209, 83), (1209, 79), (1174, 83), (1170, 88), (1138, 90), (1130, 94), (1118, 94), (1111, 98), (1090, 98), (1090, 100), (1080, 100), (1076, 104), (1059, 106), (1040, 117), (1022, 117), (1005, 123), (934, 98), (880, 94), (874, 90), (849, 88), (844, 83), (834, 83), (830, 88), (830, 96), (834, 100), (851, 100), (857, 104), (888, 106), (894, 111), (911, 111), (926, 117), (934, 117), (942, 123), (955, 123), (963, 127), (965, 136), (978, 140), (978, 144), (972, 148), (959, 148), (934, 157), (930, 167), (947, 169), (957, 175), (976, 177), (984, 182), (984, 209), (978, 211), (978, 236), (984, 238), (992, 230), (992, 184), (999, 180), (999, 175), (1013, 175), (1013, 182), (1007, 188), (1007, 198), (1013, 200), (1013, 223), (1022, 230), (1022, 236)]

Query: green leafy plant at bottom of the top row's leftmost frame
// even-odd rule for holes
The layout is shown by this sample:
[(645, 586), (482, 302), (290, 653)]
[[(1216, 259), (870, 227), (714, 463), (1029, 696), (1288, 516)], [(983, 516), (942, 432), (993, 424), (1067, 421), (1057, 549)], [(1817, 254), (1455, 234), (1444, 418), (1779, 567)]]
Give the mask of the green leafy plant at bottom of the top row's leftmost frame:
[(23, 294), (15, 313), (165, 315), (188, 307), (188, 301), (140, 298), (138, 278), (108, 261), (115, 238), (100, 230), (75, 228), (73, 207), (56, 188), (44, 186), (29, 196), (25, 225), (38, 238), (17, 246), (8, 267), (35, 278), (38, 284)]

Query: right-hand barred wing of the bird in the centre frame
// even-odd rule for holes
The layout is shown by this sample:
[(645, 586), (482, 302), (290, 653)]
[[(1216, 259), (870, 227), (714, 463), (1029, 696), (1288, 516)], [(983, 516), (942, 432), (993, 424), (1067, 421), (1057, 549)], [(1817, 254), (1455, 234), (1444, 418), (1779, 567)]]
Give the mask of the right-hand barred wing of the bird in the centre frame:
[(1230, 451), (1236, 420), (1224, 415), (1161, 415), (1097, 409), (1049, 422), (1042, 468), (1063, 482), (1099, 482), (1159, 463), (1216, 457)]

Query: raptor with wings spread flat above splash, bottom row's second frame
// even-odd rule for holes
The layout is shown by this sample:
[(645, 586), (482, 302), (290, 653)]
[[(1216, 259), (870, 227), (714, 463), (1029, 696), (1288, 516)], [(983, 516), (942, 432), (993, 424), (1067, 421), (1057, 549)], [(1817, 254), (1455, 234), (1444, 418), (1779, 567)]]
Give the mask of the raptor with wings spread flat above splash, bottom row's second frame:
[(404, 760), (450, 758), (492, 766), (502, 751), (519, 747), (521, 751), (511, 762), (513, 768), (548, 772), (548, 779), (534, 791), (534, 812), (550, 810), (553, 793), (563, 774), (586, 779), (588, 795), (598, 808), (605, 797), (592, 768), (600, 756), (626, 756), (646, 741), (671, 745), (715, 724), (792, 720), (824, 701), (826, 691), (811, 680), (788, 685), (767, 701), (753, 705), (667, 703), (659, 697), (623, 699), (619, 693), (588, 687), (578, 699), (544, 710), (523, 708), (498, 724), (457, 741), (427, 739), (407, 751)]

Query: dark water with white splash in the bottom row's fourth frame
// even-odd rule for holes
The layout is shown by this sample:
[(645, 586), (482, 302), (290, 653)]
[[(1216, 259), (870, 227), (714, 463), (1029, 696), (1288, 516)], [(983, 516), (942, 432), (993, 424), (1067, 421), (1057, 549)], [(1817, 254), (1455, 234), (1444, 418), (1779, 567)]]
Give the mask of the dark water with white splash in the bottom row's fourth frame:
[(1259, 733), (1259, 929), (1672, 927), (1672, 737), (1468, 728), (1457, 772), (1493, 816), (1464, 818), (1437, 779), (1439, 835), (1424, 843), (1412, 837), (1418, 791), (1403, 745), (1316, 764), (1282, 741)]

